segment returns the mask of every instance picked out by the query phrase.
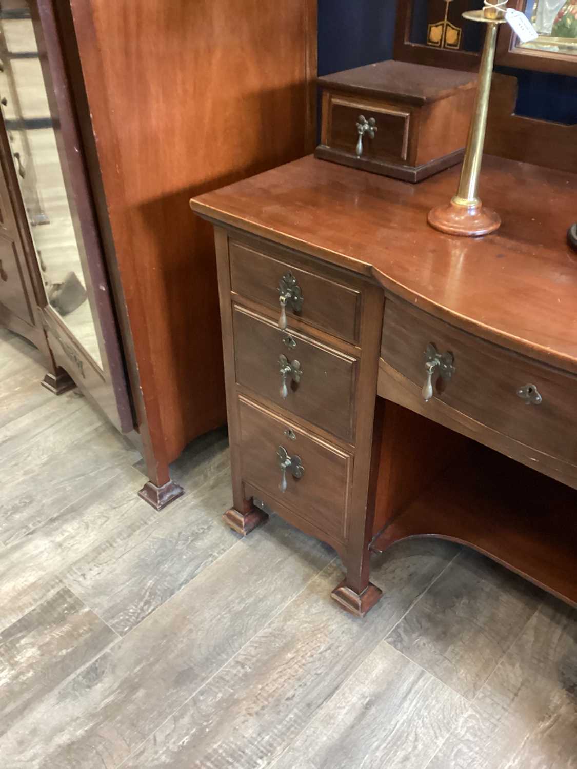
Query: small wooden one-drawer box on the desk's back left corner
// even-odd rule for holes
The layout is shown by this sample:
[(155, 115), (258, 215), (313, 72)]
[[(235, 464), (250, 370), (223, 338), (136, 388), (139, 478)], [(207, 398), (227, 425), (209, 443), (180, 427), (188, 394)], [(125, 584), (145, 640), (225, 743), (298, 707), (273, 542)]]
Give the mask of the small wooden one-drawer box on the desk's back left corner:
[(379, 62), (319, 78), (317, 158), (403, 181), (462, 161), (477, 75)]

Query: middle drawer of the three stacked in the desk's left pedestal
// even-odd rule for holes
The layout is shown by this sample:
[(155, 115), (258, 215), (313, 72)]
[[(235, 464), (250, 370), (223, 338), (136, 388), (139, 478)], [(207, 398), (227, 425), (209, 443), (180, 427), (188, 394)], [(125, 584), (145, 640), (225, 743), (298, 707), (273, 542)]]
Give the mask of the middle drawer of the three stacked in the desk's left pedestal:
[[(273, 321), (238, 305), (233, 308), (232, 320), (237, 383), (339, 438), (352, 441), (357, 359), (290, 327), (281, 331)], [(292, 372), (287, 372), (284, 379), (281, 365), (292, 365)], [(285, 398), (281, 394), (283, 381)]]

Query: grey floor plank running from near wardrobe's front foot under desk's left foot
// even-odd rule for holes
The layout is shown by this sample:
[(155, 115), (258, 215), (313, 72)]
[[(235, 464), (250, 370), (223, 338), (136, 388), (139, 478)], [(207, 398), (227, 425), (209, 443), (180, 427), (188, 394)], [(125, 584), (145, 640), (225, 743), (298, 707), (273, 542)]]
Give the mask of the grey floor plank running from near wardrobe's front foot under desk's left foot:
[(222, 521), (232, 504), (228, 450), (221, 470), (189, 488), (158, 521), (119, 527), (62, 574), (66, 584), (121, 635), (235, 544)]

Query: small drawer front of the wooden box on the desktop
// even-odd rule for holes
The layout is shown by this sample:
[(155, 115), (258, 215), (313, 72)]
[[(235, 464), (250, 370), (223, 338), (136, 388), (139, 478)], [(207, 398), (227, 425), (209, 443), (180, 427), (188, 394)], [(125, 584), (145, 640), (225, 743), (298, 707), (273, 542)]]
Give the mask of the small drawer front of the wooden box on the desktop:
[(411, 113), (395, 105), (375, 105), (355, 98), (332, 96), (326, 144), (356, 156), (357, 124), (361, 117), (369, 124), (374, 121), (376, 128), (372, 138), (369, 132), (362, 138), (363, 158), (408, 161)]

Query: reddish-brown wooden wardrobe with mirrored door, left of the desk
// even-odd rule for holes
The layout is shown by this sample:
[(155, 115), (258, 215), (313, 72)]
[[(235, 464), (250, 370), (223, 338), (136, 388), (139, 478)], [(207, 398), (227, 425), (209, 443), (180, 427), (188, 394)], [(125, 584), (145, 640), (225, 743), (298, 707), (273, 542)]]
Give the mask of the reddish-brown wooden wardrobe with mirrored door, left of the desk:
[(0, 0), (0, 25), (0, 323), (142, 451), (162, 508), (226, 418), (188, 200), (312, 151), (316, 2)]

